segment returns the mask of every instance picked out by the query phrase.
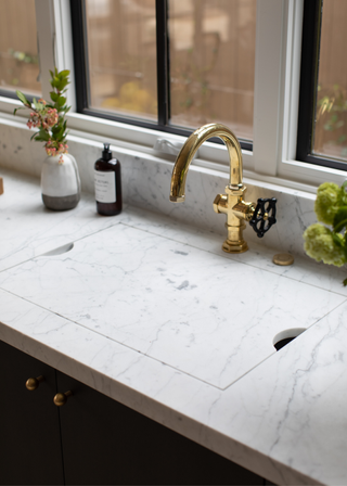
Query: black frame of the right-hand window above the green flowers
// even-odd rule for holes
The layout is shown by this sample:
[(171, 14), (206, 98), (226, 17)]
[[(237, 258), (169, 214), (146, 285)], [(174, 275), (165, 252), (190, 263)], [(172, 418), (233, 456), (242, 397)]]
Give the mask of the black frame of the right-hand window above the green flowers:
[(304, 1), (296, 159), (347, 170), (347, 163), (313, 153), (323, 0)]

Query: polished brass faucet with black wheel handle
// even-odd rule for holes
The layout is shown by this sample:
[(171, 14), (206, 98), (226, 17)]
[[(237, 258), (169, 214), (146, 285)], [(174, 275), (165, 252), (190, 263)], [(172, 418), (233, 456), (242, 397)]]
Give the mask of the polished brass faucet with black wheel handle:
[(227, 215), (228, 238), (222, 250), (228, 253), (243, 253), (248, 245), (243, 239), (243, 230), (248, 221), (259, 238), (275, 223), (274, 197), (259, 199), (258, 204), (243, 200), (246, 187), (242, 182), (242, 151), (235, 135), (224, 125), (209, 124), (192, 133), (177, 156), (171, 177), (170, 201), (183, 203), (185, 179), (190, 164), (197, 149), (211, 137), (219, 137), (227, 145), (230, 159), (230, 178), (226, 194), (218, 194), (214, 201), (215, 213)]

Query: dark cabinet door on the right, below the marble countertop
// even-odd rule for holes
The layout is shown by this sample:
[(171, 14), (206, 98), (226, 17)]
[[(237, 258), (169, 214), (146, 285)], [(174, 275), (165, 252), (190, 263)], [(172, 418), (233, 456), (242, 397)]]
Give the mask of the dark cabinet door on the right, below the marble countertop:
[(262, 485), (252, 472), (57, 372), (66, 484)]

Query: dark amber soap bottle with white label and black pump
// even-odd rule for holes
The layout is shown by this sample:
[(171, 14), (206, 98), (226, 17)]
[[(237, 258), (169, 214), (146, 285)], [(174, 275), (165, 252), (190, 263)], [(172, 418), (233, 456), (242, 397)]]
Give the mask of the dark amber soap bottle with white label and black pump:
[(104, 143), (102, 158), (94, 165), (97, 210), (100, 215), (114, 216), (121, 212), (120, 162), (112, 157), (110, 143)]

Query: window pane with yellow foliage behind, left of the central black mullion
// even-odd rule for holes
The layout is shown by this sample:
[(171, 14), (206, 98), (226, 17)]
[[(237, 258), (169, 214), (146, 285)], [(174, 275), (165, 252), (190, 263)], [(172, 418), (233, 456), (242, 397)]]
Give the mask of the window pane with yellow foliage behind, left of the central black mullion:
[(155, 0), (87, 0), (89, 106), (157, 119)]

